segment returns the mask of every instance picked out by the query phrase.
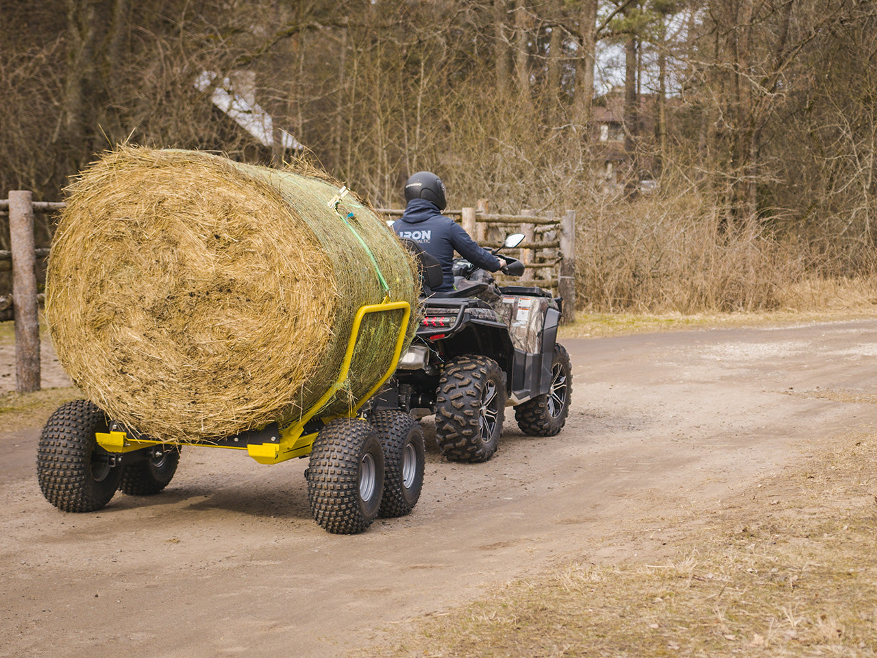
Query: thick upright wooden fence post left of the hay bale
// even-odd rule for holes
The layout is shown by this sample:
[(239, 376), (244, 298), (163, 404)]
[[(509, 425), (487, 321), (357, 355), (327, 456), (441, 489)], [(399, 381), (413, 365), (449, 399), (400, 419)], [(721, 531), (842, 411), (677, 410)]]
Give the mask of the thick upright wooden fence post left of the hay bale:
[(12, 299), (15, 308), (15, 390), (39, 390), (39, 309), (33, 241), (33, 196), (9, 193)]

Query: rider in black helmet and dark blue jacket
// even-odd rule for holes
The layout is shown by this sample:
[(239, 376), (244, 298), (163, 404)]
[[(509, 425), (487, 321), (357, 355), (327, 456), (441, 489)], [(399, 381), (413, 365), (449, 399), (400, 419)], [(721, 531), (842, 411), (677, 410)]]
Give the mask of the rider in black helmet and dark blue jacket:
[(427, 253), (441, 263), (442, 284), (432, 290), (454, 290), (453, 252), (457, 251), (467, 261), (489, 272), (506, 266), (503, 258), (497, 258), (487, 249), (479, 247), (462, 226), (445, 217), (441, 211), (447, 204), (445, 183), (429, 171), (418, 171), (405, 182), (405, 211), (401, 219), (393, 223), (393, 230), (400, 238), (414, 240)]

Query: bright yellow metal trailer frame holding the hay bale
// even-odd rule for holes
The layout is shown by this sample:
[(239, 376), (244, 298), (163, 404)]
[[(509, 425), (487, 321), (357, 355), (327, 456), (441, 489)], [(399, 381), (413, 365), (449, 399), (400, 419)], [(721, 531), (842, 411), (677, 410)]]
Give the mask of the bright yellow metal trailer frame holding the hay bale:
[[(314, 440), (317, 439), (318, 432), (305, 432), (305, 426), (311, 419), (317, 418), (317, 414), (324, 408), (335, 393), (337, 393), (346, 382), (347, 373), (350, 371), (350, 364), (353, 361), (353, 354), (356, 348), (356, 342), (360, 337), (360, 328), (363, 319), (370, 313), (382, 313), (389, 311), (403, 311), (403, 319), (399, 325), (399, 332), (396, 336), (396, 347), (393, 352), (393, 358), (390, 361), (389, 368), (381, 376), (381, 379), (362, 397), (357, 404), (353, 405), (346, 414), (335, 414), (326, 417), (319, 417), (324, 422), (328, 422), (335, 418), (353, 418), (360, 410), (360, 407), (372, 397), (384, 383), (387, 382), (390, 375), (396, 370), (399, 357), (402, 354), (402, 347), (405, 342), (405, 333), (408, 331), (408, 323), (411, 317), (411, 306), (408, 302), (391, 302), (389, 297), (385, 297), (380, 304), (366, 304), (360, 306), (359, 311), (353, 318), (353, 327), (351, 328), (350, 339), (347, 340), (347, 349), (344, 360), (341, 361), (341, 368), (335, 383), (326, 390), (324, 395), (314, 403), (308, 411), (302, 414), (297, 421), (287, 426), (278, 427), (278, 431), (271, 436), (270, 441), (247, 443), (246, 440), (239, 441), (241, 445), (227, 445), (225, 442), (220, 444), (215, 441), (185, 441), (179, 445), (185, 446), (203, 446), (203, 447), (225, 447), (233, 450), (246, 450), (255, 461), (261, 464), (276, 464), (280, 461), (286, 461), (294, 457), (304, 457), (310, 454)], [(236, 437), (237, 438), (237, 437)], [(168, 441), (158, 441), (146, 439), (127, 433), (124, 430), (111, 428), (110, 432), (96, 433), (97, 444), (110, 453), (128, 453), (139, 450), (143, 447), (166, 444)], [(171, 442), (174, 445), (174, 442)]]

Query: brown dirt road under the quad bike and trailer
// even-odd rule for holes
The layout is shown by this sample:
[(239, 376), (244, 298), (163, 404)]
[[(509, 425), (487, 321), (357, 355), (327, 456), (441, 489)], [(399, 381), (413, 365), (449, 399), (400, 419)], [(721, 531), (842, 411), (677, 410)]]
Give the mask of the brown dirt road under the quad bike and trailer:
[(185, 450), (158, 497), (64, 514), (39, 428), (0, 430), (0, 655), (343, 656), (560, 561), (660, 557), (670, 519), (877, 421), (877, 320), (564, 342), (559, 437), (507, 410), (488, 463), (431, 446), (415, 511), (353, 537), (310, 519), (305, 461), (216, 449)]

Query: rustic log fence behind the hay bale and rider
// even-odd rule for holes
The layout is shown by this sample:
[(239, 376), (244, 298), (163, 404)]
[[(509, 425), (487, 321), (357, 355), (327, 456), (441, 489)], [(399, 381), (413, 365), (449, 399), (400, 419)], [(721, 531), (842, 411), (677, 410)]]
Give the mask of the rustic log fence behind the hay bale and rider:
[[(0, 297), (0, 320), (15, 320), (15, 376), (18, 393), (39, 390), (39, 297), (36, 265), (46, 258), (48, 249), (37, 249), (33, 240), (33, 214), (61, 210), (64, 203), (35, 202), (28, 191), (11, 191), (0, 199), (0, 212), (9, 213), (10, 251), (0, 250), (0, 261), (12, 261), (12, 297)], [(402, 210), (377, 209), (381, 215), (401, 216)], [(482, 247), (499, 247), (508, 233), (523, 232), (523, 246), (510, 249), (526, 265), (524, 278), (504, 279), (501, 283), (539, 286), (553, 290), (563, 299), (566, 318), (575, 317), (575, 213), (562, 218), (553, 214), (537, 217), (532, 211), (520, 215), (495, 215), (487, 203), (478, 208), (445, 211), (459, 218), (460, 224)], [(20, 300), (24, 300), (21, 302)]]

